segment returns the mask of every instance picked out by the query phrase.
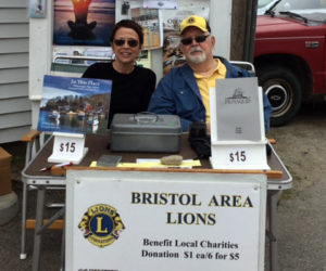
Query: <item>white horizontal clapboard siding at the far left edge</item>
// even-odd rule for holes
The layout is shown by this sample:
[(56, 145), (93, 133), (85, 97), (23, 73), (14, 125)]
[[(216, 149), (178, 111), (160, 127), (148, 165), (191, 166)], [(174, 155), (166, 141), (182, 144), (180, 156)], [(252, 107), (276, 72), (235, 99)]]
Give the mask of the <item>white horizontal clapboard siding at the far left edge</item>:
[(30, 129), (26, 0), (0, 1), (0, 143)]

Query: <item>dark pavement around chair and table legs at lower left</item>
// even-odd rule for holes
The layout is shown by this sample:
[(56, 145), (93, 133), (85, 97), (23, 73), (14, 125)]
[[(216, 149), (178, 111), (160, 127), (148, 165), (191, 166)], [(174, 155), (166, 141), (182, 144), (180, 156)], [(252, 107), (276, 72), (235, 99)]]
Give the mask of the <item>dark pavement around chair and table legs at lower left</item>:
[[(18, 197), (18, 214), (7, 224), (0, 225), (0, 270), (1, 271), (27, 271), (32, 270), (32, 255), (34, 230), (27, 230), (25, 260), (20, 259), (21, 253), (21, 221), (22, 221), (22, 178), (21, 171), (25, 165), (25, 145), (21, 142), (1, 144), (1, 146), (13, 156), (12, 163), (12, 189)], [(53, 191), (48, 196), (51, 202), (62, 202), (64, 199), (63, 191)], [(28, 192), (28, 211), (27, 217), (35, 217), (36, 191)], [(55, 210), (47, 209), (46, 216), (50, 216)], [(40, 270), (58, 271), (60, 270), (61, 259), (61, 235), (60, 230), (48, 230), (42, 240), (42, 257)]]

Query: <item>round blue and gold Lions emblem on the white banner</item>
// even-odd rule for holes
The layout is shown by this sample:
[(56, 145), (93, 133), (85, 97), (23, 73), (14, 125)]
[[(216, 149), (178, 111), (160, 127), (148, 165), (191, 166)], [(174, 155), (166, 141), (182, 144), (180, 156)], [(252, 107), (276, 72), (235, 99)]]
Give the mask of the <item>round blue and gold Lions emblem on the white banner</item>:
[(90, 206), (84, 214), (78, 228), (84, 237), (98, 247), (111, 245), (125, 229), (116, 209), (106, 204)]

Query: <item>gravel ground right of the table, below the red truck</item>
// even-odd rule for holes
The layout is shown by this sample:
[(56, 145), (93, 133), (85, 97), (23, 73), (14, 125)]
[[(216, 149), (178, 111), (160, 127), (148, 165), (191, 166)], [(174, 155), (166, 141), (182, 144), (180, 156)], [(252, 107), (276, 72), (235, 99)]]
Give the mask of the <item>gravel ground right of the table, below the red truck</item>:
[(326, 270), (326, 104), (305, 104), (273, 128), (276, 152), (293, 177), (278, 206), (281, 271)]

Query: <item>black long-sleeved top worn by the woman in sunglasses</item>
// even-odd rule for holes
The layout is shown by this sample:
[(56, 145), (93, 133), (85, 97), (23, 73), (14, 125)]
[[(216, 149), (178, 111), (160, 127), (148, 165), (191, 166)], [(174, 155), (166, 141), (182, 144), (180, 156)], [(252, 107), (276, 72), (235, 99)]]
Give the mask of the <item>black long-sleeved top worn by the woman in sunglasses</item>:
[(86, 69), (83, 77), (112, 80), (108, 128), (116, 113), (135, 114), (147, 111), (156, 83), (156, 76), (149, 68), (135, 66), (126, 75), (117, 73), (112, 63), (95, 63)]

